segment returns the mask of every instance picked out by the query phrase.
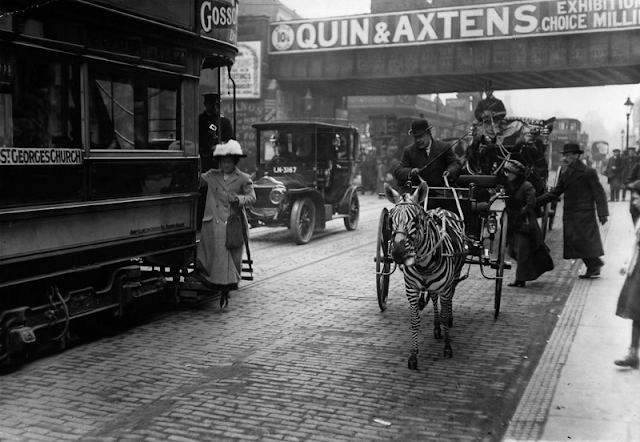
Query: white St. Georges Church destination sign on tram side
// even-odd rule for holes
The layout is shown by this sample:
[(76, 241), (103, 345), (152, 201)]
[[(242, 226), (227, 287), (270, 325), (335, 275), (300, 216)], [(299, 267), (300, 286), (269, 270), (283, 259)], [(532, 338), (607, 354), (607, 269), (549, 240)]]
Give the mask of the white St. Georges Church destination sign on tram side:
[(82, 164), (82, 149), (0, 147), (0, 166)]

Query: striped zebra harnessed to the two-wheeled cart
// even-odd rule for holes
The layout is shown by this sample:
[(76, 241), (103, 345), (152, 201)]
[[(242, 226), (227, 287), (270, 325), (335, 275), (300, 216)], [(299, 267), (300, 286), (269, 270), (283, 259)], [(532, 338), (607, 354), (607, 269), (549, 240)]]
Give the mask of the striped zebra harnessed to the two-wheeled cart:
[[(420, 202), (429, 187), (425, 182), (409, 195), (400, 195), (385, 184), (387, 199), (395, 204), (391, 209), (393, 244), (391, 256), (403, 264), (405, 288), (411, 308), (411, 356), (409, 369), (418, 368), (418, 331), (420, 311), (428, 302), (427, 291), (433, 302), (434, 336), (442, 339), (440, 324), (444, 326), (444, 357), (451, 358), (449, 327), (453, 325), (452, 299), (465, 263), (468, 246), (460, 218), (447, 210), (437, 208), (425, 211)], [(441, 312), (438, 315), (438, 297)]]

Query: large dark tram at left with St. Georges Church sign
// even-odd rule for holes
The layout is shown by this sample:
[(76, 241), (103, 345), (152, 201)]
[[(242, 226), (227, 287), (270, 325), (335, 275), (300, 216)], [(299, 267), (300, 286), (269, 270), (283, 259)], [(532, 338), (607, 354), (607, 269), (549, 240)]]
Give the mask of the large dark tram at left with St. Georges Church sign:
[(1, 366), (175, 290), (195, 254), (201, 79), (230, 77), (237, 11), (0, 4)]

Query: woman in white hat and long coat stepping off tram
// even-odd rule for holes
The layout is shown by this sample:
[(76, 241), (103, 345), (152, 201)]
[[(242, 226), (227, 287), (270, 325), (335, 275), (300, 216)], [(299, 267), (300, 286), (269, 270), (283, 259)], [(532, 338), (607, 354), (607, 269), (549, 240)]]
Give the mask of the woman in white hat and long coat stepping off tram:
[[(225, 307), (229, 291), (238, 288), (245, 235), (249, 231), (245, 208), (256, 201), (251, 177), (236, 165), (246, 155), (240, 143), (229, 140), (215, 147), (213, 156), (220, 169), (211, 169), (200, 176), (200, 186), (208, 186), (196, 260), (196, 277), (207, 287), (222, 292), (220, 306)], [(232, 243), (227, 239), (227, 220), (241, 215), (244, 234), (236, 231)], [(230, 229), (232, 231), (232, 229)], [(241, 236), (241, 237), (239, 237)]]

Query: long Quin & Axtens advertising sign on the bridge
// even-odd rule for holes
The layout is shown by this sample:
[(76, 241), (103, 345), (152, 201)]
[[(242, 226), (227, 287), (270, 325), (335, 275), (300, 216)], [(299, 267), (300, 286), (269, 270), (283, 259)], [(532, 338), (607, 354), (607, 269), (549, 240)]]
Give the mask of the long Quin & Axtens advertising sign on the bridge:
[(270, 54), (640, 28), (640, 0), (528, 0), (270, 25)]

